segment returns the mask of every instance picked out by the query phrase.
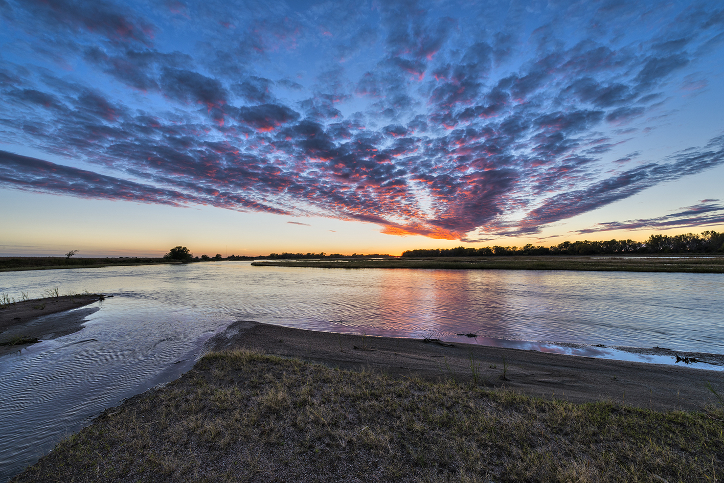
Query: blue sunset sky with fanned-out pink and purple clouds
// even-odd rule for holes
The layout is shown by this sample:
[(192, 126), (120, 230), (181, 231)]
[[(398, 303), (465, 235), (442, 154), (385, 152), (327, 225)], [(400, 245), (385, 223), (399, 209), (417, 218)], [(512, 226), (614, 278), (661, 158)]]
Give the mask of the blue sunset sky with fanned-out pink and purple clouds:
[(717, 1), (0, 0), (0, 255), (724, 229)]

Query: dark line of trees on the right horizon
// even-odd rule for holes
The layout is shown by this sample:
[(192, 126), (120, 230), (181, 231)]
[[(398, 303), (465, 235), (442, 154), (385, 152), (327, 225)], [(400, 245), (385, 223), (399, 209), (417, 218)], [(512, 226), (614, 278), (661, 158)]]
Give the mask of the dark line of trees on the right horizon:
[(701, 235), (651, 235), (644, 242), (633, 240), (599, 240), (563, 242), (552, 246), (523, 248), (498, 246), (483, 248), (418, 248), (403, 252), (403, 257), (421, 256), (500, 256), (500, 255), (611, 255), (633, 253), (715, 253), (724, 251), (724, 233), (707, 230)]

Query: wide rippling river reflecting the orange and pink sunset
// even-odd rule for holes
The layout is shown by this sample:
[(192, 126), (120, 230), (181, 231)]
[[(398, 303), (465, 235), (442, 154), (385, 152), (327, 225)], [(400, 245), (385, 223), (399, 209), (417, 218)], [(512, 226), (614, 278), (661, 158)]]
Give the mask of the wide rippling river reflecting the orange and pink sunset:
[[(114, 297), (76, 309), (86, 321), (79, 332), (0, 358), (0, 482), (104, 408), (178, 377), (235, 320), (664, 363), (673, 361), (593, 346), (724, 353), (721, 274), (234, 261), (0, 272), (0, 295), (36, 298), (54, 287)], [(478, 337), (457, 336), (466, 333)]]

